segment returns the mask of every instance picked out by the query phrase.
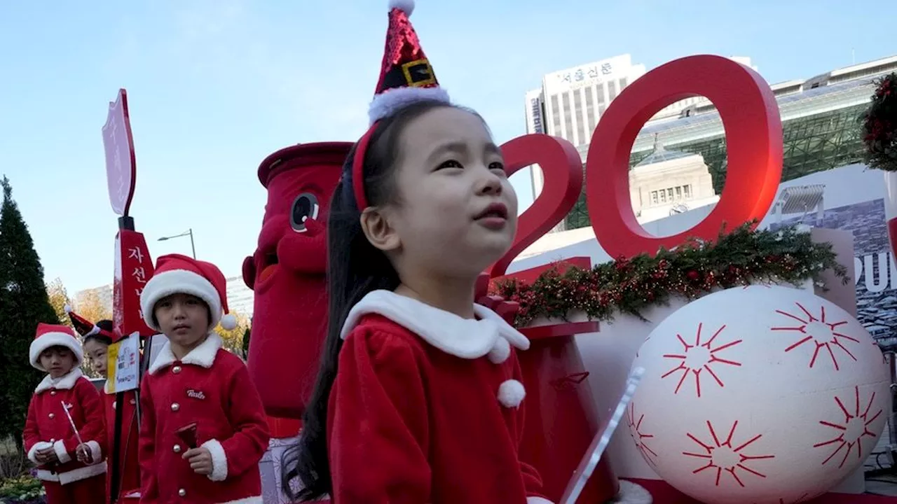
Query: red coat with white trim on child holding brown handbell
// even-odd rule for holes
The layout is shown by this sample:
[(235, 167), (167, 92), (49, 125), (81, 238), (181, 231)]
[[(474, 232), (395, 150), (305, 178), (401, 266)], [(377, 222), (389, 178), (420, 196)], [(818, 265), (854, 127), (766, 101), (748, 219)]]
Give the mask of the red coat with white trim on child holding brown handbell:
[[(268, 447), (265, 412), (246, 366), (218, 335), (177, 361), (162, 348), (140, 396), (142, 503), (261, 504), (258, 461)], [(196, 443), (212, 454), (213, 472), (196, 474), (176, 433), (196, 422)]]

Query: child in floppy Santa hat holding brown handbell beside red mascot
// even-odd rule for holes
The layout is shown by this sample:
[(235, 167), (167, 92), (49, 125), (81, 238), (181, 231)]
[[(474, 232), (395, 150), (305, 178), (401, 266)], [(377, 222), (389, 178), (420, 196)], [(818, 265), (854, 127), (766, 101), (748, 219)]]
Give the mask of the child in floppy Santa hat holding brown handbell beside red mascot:
[(223, 315), (224, 275), (191, 257), (161, 256), (140, 307), (169, 340), (141, 387), (140, 501), (260, 504), (262, 401), (246, 365), (213, 332), (219, 322), (236, 326)]

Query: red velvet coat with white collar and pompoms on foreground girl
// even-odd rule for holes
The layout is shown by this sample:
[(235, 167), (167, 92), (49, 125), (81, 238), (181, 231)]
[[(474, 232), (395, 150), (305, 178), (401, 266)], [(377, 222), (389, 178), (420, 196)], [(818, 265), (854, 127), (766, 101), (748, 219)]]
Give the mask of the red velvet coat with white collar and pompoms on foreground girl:
[(343, 330), (327, 431), (337, 504), (547, 502), (518, 457), (527, 338), (374, 291)]

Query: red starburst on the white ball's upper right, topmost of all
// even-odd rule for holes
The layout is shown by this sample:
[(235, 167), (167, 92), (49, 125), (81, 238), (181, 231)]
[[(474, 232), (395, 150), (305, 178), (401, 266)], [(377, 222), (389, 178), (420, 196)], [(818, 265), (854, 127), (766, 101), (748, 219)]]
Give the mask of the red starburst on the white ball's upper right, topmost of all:
[(819, 317), (815, 317), (808, 309), (804, 308), (804, 305), (798, 302), (795, 302), (794, 304), (797, 305), (797, 308), (800, 308), (800, 312), (797, 313), (797, 315), (781, 309), (777, 309), (776, 313), (796, 320), (797, 322), (800, 322), (800, 325), (772, 327), (773, 331), (795, 331), (800, 333), (800, 339), (796, 343), (788, 346), (788, 348), (785, 349), (785, 352), (791, 352), (805, 343), (815, 345), (813, 357), (810, 359), (810, 368), (813, 368), (816, 365), (816, 360), (820, 353), (823, 353), (823, 355), (827, 355), (832, 359), (832, 366), (834, 366), (834, 369), (836, 371), (840, 370), (840, 363), (838, 362), (838, 356), (835, 352), (836, 350), (838, 354), (847, 355), (853, 361), (857, 361), (857, 357), (855, 357), (845, 345), (849, 346), (852, 343), (859, 343), (859, 340), (853, 336), (843, 335), (838, 332), (839, 326), (847, 324), (846, 319), (830, 322), (825, 319), (824, 306), (819, 307), (820, 315)]

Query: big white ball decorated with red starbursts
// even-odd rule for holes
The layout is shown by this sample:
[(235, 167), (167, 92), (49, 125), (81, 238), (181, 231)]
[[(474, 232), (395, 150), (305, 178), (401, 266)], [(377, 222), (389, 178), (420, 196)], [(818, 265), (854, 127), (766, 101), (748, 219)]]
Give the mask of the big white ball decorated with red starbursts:
[(692, 301), (633, 366), (632, 438), (666, 482), (708, 504), (793, 504), (862, 465), (890, 375), (856, 318), (812, 292), (753, 285)]

